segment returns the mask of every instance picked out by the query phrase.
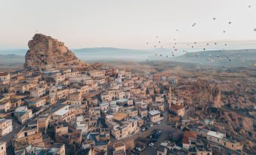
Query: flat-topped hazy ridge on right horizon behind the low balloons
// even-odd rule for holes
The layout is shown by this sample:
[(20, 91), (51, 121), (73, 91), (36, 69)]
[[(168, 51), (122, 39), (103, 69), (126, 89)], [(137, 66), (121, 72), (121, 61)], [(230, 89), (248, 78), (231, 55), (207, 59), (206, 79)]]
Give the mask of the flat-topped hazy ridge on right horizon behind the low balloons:
[(253, 66), (256, 63), (256, 50), (210, 50), (186, 53), (171, 60), (211, 66)]

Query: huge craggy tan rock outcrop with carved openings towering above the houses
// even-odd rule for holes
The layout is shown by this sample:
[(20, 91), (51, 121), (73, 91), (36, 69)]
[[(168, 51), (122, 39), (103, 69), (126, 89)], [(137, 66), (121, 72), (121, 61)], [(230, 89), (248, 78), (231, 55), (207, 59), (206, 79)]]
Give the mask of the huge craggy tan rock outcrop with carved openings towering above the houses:
[(44, 70), (51, 68), (86, 68), (88, 64), (79, 60), (63, 42), (50, 36), (35, 34), (29, 41), (25, 56), (25, 68)]

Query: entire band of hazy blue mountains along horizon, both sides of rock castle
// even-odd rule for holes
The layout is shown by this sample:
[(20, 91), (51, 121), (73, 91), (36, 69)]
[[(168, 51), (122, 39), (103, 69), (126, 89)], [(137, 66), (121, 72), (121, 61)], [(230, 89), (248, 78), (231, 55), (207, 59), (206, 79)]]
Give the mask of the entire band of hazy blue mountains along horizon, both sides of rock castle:
[[(26, 51), (26, 49), (0, 50), (0, 54), (15, 54), (25, 56)], [(132, 50), (112, 47), (96, 47), (72, 49), (72, 52), (75, 53), (79, 59), (88, 62), (116, 60), (143, 62), (146, 59), (149, 59), (190, 62), (209, 66), (251, 66), (256, 63), (256, 50), (208, 50), (202, 52), (185, 53), (184, 55), (174, 57), (171, 57), (171, 50), (165, 48)], [(157, 56), (155, 56), (156, 53), (158, 54)], [(162, 54), (162, 56), (160, 56), (160, 54)], [(17, 58), (14, 57), (12, 59), (17, 59), (16, 61), (19, 62), (22, 60), (22, 62), (24, 62), (23, 59), (25, 58), (20, 56)], [(10, 61), (6, 61), (6, 59), (0, 59), (0, 63), (2, 63), (2, 61), (11, 62), (10, 56), (9, 60)]]

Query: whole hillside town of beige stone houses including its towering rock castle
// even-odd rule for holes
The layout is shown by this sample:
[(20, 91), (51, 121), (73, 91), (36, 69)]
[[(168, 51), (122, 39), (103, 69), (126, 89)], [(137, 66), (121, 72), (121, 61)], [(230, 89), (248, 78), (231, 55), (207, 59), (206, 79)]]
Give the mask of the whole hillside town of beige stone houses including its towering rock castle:
[(217, 108), (204, 115), (184, 98), (179, 78), (85, 64), (42, 34), (0, 82), (1, 155), (251, 154)]

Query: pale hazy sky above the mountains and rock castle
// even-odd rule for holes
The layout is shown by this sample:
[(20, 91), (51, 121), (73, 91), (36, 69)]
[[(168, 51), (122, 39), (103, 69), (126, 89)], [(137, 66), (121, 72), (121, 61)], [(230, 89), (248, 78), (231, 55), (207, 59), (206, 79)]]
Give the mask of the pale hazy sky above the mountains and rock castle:
[(171, 47), (168, 43), (174, 38), (177, 42), (251, 41), (256, 40), (256, 1), (0, 0), (0, 21), (0, 49), (26, 48), (36, 30), (69, 48), (143, 49), (157, 41)]

